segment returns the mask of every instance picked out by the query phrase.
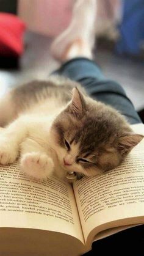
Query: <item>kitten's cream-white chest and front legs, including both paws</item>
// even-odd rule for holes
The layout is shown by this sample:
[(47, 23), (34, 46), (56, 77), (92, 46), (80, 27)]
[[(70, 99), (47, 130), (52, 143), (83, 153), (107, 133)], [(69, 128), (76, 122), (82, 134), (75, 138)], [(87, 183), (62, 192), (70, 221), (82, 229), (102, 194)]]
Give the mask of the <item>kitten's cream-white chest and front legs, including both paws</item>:
[[(45, 114), (48, 111), (49, 116)], [(49, 127), (62, 107), (57, 106), (53, 98), (48, 103), (38, 104), (29, 114), (23, 114), (0, 135), (0, 163), (13, 163), (21, 152), (21, 168), (35, 178), (46, 178), (54, 169), (54, 163), (48, 156)], [(29, 137), (29, 138), (27, 138)], [(51, 145), (51, 144), (50, 144)], [(50, 154), (51, 155), (51, 154)]]

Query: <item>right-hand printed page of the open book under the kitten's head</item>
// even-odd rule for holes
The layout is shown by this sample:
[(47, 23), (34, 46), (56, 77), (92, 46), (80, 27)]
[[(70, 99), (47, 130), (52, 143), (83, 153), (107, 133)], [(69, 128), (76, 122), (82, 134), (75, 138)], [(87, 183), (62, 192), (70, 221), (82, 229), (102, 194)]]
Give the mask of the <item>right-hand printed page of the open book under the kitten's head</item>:
[(82, 178), (73, 188), (85, 241), (95, 227), (98, 233), (144, 223), (144, 139), (120, 166), (99, 177)]

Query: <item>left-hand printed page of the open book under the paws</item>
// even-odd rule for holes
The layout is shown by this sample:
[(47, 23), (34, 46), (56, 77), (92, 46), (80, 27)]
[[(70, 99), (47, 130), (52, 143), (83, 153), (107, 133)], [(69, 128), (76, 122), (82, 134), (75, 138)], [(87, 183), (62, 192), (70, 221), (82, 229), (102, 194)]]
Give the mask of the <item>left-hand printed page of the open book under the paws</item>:
[(18, 163), (0, 166), (0, 227), (51, 230), (84, 243), (71, 185), (56, 177), (30, 180)]

